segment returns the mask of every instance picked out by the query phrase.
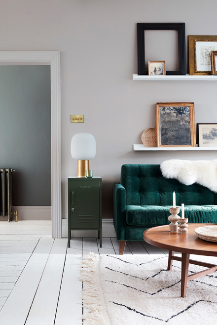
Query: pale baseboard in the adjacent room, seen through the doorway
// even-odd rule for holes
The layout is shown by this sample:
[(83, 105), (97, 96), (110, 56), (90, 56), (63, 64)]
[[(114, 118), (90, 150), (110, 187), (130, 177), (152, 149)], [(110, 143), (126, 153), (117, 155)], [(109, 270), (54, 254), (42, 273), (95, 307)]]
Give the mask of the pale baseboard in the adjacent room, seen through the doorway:
[[(17, 220), (51, 220), (51, 206), (13, 206), (17, 210)], [(15, 220), (15, 215), (12, 220)], [(0, 216), (0, 220), (7, 220), (7, 216)]]

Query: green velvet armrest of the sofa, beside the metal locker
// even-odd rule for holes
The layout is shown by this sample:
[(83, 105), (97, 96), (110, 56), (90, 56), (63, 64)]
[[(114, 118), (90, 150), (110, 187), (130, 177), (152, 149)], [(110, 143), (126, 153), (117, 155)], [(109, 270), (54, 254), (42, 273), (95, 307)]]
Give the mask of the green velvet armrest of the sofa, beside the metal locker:
[(126, 190), (123, 185), (113, 185), (113, 220), (117, 240), (125, 240), (126, 230)]

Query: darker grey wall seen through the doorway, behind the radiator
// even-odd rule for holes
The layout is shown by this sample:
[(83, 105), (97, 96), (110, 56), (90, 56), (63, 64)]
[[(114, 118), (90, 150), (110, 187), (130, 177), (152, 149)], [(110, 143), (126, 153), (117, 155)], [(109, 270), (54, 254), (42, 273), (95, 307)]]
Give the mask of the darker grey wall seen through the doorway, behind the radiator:
[(51, 205), (50, 66), (0, 66), (0, 168), (13, 205)]

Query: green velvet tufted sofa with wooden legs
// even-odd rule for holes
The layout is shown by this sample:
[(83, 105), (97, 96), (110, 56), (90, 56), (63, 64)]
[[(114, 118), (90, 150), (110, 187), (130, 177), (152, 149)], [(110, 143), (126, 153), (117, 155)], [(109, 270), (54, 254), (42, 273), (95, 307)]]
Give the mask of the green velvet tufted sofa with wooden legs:
[(217, 193), (196, 183), (187, 186), (164, 178), (157, 164), (121, 167), (120, 184), (113, 185), (113, 220), (120, 254), (126, 241), (143, 241), (145, 229), (169, 224), (174, 191), (176, 205), (184, 203), (189, 223), (217, 223)]

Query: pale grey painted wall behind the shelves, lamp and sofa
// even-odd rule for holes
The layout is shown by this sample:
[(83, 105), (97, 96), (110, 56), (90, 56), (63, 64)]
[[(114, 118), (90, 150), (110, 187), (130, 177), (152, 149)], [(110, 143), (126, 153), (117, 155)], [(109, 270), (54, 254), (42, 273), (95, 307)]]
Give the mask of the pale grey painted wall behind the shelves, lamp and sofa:
[[(90, 167), (103, 178), (103, 217), (112, 217), (112, 185), (122, 164), (217, 158), (216, 152), (133, 152), (142, 132), (155, 126), (156, 102), (194, 102), (196, 123), (217, 122), (217, 82), (132, 80), (138, 22), (185, 22), (187, 45), (188, 35), (216, 35), (216, 12), (216, 0), (4, 1), (0, 50), (61, 51), (63, 218), (67, 178), (76, 173), (70, 143), (77, 132), (96, 138)], [(162, 60), (160, 47), (158, 53)], [(72, 124), (71, 114), (84, 114), (84, 123)]]

